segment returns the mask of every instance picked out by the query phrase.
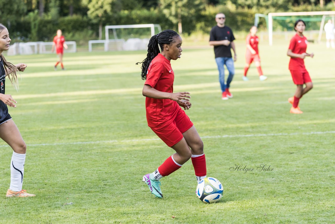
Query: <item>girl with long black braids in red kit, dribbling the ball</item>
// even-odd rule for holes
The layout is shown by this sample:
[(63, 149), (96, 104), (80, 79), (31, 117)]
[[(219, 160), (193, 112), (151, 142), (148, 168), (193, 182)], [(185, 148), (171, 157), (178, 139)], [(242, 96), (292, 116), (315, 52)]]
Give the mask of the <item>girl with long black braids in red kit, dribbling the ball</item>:
[(176, 151), (154, 172), (143, 176), (151, 193), (159, 198), (163, 197), (159, 180), (181, 168), (190, 158), (198, 183), (206, 178), (203, 142), (181, 108), (186, 110), (191, 107), (190, 93), (173, 93), (175, 75), (170, 61), (181, 57), (181, 45), (182, 38), (178, 33), (164, 30), (151, 37), (147, 57), (143, 62), (138, 62), (142, 63), (141, 76), (146, 80), (142, 94), (146, 97), (148, 126), (167, 146)]

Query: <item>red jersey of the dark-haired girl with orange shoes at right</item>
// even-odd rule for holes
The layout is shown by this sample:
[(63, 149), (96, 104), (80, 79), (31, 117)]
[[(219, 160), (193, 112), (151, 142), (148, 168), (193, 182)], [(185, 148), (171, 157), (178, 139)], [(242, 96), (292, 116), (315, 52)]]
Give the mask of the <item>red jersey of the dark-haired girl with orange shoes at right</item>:
[[(300, 37), (298, 34), (295, 34), (291, 41), (288, 49), (292, 50), (292, 53), (302, 54), (306, 52), (308, 41), (305, 36)], [(304, 59), (298, 57), (291, 57), (288, 64), (289, 70), (306, 70)]]

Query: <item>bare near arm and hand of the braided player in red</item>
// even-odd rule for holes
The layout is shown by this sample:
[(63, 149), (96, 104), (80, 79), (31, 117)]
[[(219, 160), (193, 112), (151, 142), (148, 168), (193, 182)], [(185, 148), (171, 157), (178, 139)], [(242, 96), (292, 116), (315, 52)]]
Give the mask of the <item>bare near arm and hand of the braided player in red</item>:
[(186, 103), (183, 100), (190, 101), (189, 98), (189, 92), (178, 92), (178, 93), (166, 93), (166, 92), (161, 92), (158, 91), (154, 88), (152, 88), (150, 85), (145, 84), (143, 86), (142, 90), (142, 95), (150, 98), (155, 98), (155, 99), (172, 99), (174, 101), (180, 102), (180, 103)]

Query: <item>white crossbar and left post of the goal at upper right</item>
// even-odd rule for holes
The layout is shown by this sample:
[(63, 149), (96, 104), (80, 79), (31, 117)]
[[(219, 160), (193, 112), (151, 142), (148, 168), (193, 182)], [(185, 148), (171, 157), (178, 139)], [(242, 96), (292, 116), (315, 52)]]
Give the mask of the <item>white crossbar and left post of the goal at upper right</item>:
[[(297, 16), (297, 15), (335, 15), (335, 11), (316, 12), (270, 12), (268, 14), (269, 45), (272, 46), (273, 20), (272, 16)], [(320, 28), (321, 29), (321, 28)]]

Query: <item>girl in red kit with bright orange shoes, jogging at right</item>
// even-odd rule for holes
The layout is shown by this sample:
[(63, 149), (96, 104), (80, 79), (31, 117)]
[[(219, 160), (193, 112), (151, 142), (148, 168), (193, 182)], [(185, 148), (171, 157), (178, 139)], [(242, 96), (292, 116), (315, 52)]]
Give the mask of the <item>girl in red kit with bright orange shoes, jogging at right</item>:
[[(290, 45), (287, 50), (287, 56), (290, 56), (288, 69), (291, 72), (293, 83), (296, 85), (296, 90), (293, 97), (288, 98), (288, 102), (292, 104), (290, 113), (302, 114), (298, 104), (300, 98), (313, 88), (313, 83), (309, 73), (305, 68), (304, 58), (310, 56), (313, 58), (314, 54), (306, 53), (308, 41), (303, 35), (306, 29), (306, 24), (302, 19), (298, 19), (294, 24), (296, 34), (292, 37)], [(304, 84), (306, 87), (304, 88)]]

